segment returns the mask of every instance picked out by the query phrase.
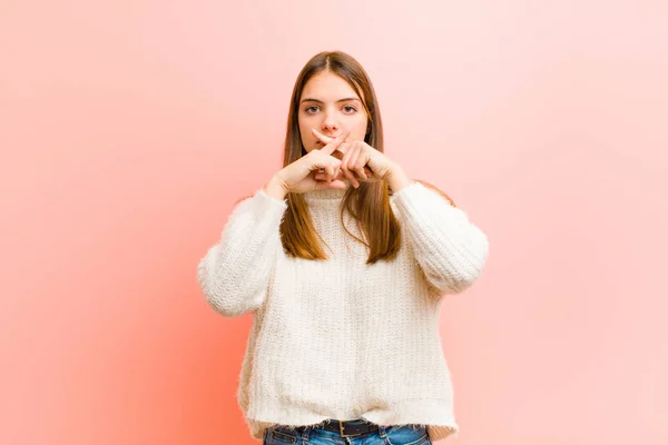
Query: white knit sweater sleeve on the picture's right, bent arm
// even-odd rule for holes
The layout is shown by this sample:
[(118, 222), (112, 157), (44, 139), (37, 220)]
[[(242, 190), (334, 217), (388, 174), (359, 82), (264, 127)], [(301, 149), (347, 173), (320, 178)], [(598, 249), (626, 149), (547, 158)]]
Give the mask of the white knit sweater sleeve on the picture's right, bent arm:
[(428, 281), (443, 294), (471, 286), (487, 261), (487, 235), (463, 210), (420, 182), (394, 194), (394, 202)]

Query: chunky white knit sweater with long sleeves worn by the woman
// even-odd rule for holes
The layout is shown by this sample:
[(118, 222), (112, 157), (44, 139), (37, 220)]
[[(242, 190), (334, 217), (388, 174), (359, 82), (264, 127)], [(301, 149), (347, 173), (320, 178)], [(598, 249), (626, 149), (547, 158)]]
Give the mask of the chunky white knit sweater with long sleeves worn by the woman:
[(432, 439), (443, 438), (458, 425), (438, 312), (443, 294), (481, 274), (487, 236), (414, 182), (391, 197), (402, 227), (397, 257), (366, 265), (366, 247), (342, 226), (343, 195), (305, 194), (327, 260), (285, 255), (278, 228), (287, 206), (259, 190), (236, 206), (198, 265), (217, 312), (255, 313), (237, 393), (250, 434), (364, 417), (423, 424)]

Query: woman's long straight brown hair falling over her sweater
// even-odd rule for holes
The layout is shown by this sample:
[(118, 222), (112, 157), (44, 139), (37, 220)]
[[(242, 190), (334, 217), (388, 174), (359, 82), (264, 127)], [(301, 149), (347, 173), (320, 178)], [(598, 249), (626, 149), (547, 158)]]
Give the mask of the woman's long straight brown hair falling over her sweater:
[[(306, 154), (299, 134), (299, 99), (306, 82), (322, 71), (333, 72), (343, 78), (363, 101), (369, 116), (364, 141), (383, 152), (383, 123), (375, 91), (362, 66), (351, 56), (341, 51), (324, 51), (314, 56), (304, 66), (292, 92), (287, 131), (285, 135), (283, 166), (296, 161)], [(433, 188), (433, 187), (432, 187)], [(393, 259), (401, 245), (400, 224), (390, 207), (390, 191), (386, 181), (360, 182), (358, 188), (348, 187), (341, 206), (341, 220), (344, 211), (356, 220), (361, 239), (351, 236), (369, 248), (367, 264), (381, 259)], [(345, 228), (345, 225), (344, 225)], [(287, 194), (287, 210), (281, 222), (281, 240), (285, 253), (305, 259), (326, 259), (321, 238), (311, 220), (306, 200), (301, 194)]]

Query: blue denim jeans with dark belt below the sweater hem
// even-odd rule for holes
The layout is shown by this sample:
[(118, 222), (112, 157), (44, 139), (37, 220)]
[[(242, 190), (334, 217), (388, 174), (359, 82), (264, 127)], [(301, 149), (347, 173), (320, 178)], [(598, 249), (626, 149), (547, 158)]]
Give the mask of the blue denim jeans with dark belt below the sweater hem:
[(288, 429), (275, 426), (265, 432), (263, 445), (431, 445), (423, 425), (379, 426), (373, 433), (341, 437), (313, 426)]

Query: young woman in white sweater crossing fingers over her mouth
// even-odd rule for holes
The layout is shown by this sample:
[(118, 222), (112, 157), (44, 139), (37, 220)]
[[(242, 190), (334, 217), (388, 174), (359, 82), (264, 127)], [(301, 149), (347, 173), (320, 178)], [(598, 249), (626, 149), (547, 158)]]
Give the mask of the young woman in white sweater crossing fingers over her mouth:
[(265, 444), (429, 444), (458, 431), (439, 337), (444, 294), (488, 239), (383, 152), (372, 83), (343, 52), (297, 77), (284, 167), (230, 215), (197, 277), (254, 313), (238, 403)]

